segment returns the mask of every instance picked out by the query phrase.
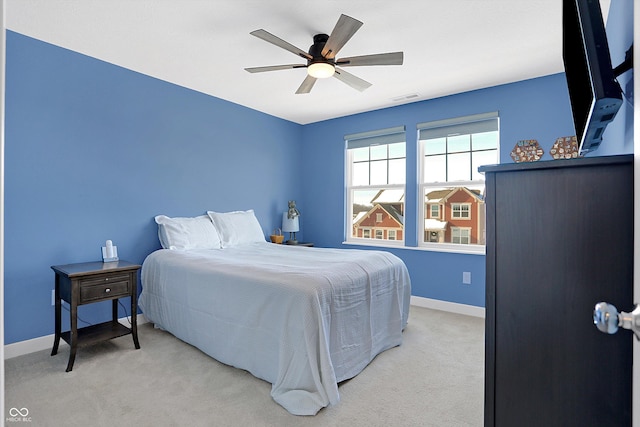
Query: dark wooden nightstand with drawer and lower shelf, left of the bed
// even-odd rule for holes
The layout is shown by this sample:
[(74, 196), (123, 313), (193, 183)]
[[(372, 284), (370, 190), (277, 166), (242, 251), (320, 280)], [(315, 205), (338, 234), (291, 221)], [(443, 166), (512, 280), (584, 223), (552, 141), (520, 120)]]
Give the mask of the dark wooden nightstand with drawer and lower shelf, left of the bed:
[[(85, 262), (51, 266), (55, 272), (55, 338), (51, 355), (58, 353), (60, 338), (71, 347), (67, 372), (73, 369), (78, 346), (131, 334), (136, 349), (138, 343), (137, 290), (140, 265), (127, 261)], [(131, 297), (131, 327), (118, 322), (118, 298)], [(62, 332), (62, 300), (69, 303), (71, 329)], [(78, 306), (112, 300), (110, 321), (78, 329)]]

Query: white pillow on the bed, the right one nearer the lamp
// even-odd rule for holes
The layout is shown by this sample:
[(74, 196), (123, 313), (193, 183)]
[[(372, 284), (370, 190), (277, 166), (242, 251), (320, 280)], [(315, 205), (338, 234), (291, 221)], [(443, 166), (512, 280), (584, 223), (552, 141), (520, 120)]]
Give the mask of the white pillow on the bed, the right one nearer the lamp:
[(223, 248), (266, 241), (252, 209), (224, 213), (207, 211), (207, 215), (218, 229)]

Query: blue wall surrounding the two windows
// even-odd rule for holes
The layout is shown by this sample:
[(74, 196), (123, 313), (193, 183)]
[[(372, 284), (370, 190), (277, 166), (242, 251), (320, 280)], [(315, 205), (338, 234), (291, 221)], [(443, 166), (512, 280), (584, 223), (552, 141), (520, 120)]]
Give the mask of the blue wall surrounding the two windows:
[[(549, 160), (548, 152), (555, 140), (575, 134), (564, 74), (306, 125), (302, 152), (306, 238), (321, 246), (351, 247), (342, 244), (344, 135), (404, 125), (408, 195), (405, 244), (413, 248), (390, 251), (407, 264), (413, 295), (484, 307), (484, 256), (415, 249), (418, 206), (417, 197), (410, 195), (418, 194), (417, 124), (491, 111), (500, 114), (501, 162), (512, 162), (509, 153), (522, 139), (538, 140)], [(471, 285), (462, 284), (464, 271), (471, 272)]]

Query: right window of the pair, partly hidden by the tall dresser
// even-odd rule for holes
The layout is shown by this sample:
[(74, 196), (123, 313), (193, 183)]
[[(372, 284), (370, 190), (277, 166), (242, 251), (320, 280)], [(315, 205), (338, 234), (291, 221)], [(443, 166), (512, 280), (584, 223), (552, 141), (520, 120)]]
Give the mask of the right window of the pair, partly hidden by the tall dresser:
[(419, 244), (484, 250), (484, 177), (478, 167), (499, 162), (498, 114), (421, 123), (418, 135), (424, 221)]

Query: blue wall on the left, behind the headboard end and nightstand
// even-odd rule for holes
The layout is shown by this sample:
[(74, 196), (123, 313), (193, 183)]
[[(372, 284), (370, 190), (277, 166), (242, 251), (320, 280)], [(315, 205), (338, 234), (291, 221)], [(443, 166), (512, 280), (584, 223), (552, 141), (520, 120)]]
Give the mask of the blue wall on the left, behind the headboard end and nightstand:
[(268, 235), (302, 194), (300, 125), (10, 31), (6, 52), (6, 344), (53, 333), (51, 265), (107, 239), (141, 263), (157, 214), (254, 209)]

